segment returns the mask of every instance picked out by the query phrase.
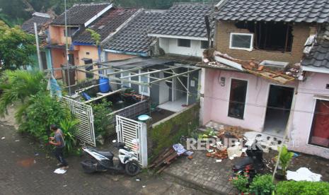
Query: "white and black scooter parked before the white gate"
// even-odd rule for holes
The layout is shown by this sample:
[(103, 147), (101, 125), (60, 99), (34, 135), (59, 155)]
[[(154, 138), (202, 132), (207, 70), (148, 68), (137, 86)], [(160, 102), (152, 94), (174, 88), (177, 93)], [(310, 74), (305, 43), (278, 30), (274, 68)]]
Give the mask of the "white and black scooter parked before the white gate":
[(88, 173), (114, 171), (125, 172), (130, 176), (137, 175), (141, 171), (141, 167), (134, 152), (125, 146), (125, 143), (115, 143), (115, 148), (119, 150), (119, 162), (116, 165), (113, 162), (112, 152), (83, 147), (82, 150), (91, 156), (91, 159), (80, 162), (83, 170)]

